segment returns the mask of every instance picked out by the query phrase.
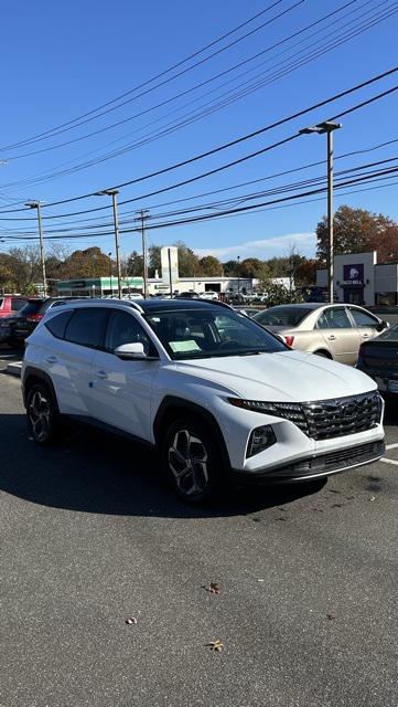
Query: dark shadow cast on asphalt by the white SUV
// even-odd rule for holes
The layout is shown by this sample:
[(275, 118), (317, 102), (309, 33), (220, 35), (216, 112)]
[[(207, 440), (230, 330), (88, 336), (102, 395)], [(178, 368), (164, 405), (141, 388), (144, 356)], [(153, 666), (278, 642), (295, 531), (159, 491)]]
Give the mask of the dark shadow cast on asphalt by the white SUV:
[(212, 505), (191, 507), (174, 496), (157, 454), (144, 445), (80, 428), (66, 431), (60, 446), (41, 449), (28, 437), (22, 414), (0, 414), (0, 489), (55, 508), (172, 518), (235, 516), (290, 503), (325, 484), (227, 489)]

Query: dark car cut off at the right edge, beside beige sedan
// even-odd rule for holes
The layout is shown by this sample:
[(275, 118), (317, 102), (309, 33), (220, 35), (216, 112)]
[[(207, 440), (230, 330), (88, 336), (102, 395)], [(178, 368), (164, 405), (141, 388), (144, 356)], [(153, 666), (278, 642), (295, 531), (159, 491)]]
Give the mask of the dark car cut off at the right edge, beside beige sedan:
[(361, 345), (356, 368), (373, 378), (384, 394), (398, 394), (398, 324)]

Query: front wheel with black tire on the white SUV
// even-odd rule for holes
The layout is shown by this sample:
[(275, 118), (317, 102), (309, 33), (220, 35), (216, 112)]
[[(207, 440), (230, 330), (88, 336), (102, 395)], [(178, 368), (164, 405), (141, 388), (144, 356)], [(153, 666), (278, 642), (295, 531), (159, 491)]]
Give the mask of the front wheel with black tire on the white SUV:
[(216, 496), (222, 461), (212, 432), (200, 419), (172, 422), (161, 443), (161, 457), (169, 481), (184, 502), (200, 504)]

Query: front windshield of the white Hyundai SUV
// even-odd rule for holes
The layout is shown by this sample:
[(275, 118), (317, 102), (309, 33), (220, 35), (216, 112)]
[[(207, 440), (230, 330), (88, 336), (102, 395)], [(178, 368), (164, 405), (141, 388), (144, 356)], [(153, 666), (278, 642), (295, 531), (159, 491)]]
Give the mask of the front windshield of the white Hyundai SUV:
[(227, 308), (215, 309), (159, 312), (151, 313), (146, 318), (173, 359), (250, 356), (289, 350), (245, 315)]

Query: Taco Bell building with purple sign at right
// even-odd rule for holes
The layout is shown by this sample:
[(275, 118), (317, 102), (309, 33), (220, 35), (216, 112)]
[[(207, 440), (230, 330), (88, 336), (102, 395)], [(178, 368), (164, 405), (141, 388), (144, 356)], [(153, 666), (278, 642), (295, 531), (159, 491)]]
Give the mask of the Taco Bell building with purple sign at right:
[[(377, 253), (334, 257), (334, 297), (355, 305), (398, 305), (398, 263), (377, 263)], [(316, 272), (316, 286), (326, 287), (327, 272)]]

